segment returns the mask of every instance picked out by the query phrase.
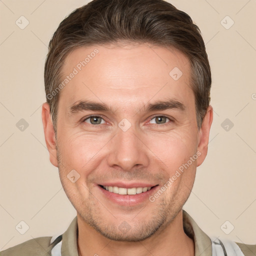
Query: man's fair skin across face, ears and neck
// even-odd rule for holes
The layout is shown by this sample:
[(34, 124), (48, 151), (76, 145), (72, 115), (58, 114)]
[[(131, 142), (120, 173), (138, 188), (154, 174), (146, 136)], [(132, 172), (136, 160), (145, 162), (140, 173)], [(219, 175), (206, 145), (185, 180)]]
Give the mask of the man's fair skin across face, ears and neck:
[[(145, 44), (77, 48), (66, 57), (62, 78), (95, 48), (95, 57), (60, 91), (56, 137), (49, 106), (42, 105), (50, 161), (77, 211), (80, 255), (194, 255), (194, 243), (183, 231), (182, 206), (207, 153), (212, 107), (198, 129), (189, 62), (175, 49)], [(183, 73), (178, 80), (169, 75), (174, 67)], [(167, 99), (184, 109), (146, 109), (148, 103)], [(104, 103), (111, 111), (70, 111), (81, 100)], [(93, 122), (90, 115), (99, 117)], [(154, 118), (163, 115), (167, 118)], [(131, 125), (126, 131), (118, 126), (123, 118)], [(172, 185), (149, 201), (198, 151)], [(67, 178), (72, 169), (80, 175), (74, 183)], [(139, 202), (133, 195), (118, 202), (99, 187), (109, 182), (155, 187)], [(122, 223), (126, 231), (119, 228)]]

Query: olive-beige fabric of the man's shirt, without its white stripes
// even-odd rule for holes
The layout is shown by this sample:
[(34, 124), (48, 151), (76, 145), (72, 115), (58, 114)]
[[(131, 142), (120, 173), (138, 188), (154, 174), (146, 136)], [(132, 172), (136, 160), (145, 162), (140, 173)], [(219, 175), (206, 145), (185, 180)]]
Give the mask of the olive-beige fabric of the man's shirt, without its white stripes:
[[(209, 236), (199, 228), (186, 211), (182, 210), (182, 213), (183, 229), (194, 241), (195, 256), (212, 256), (212, 242)], [(0, 256), (49, 256), (52, 248), (54, 246), (54, 249), (57, 248), (59, 244), (61, 244), (61, 256), (78, 256), (77, 235), (78, 226), (77, 217), (75, 217), (62, 235), (37, 237), (25, 241), (1, 251)], [(238, 242), (236, 244), (244, 256), (256, 256), (256, 244), (250, 245)], [(227, 256), (233, 255), (228, 254)]]

